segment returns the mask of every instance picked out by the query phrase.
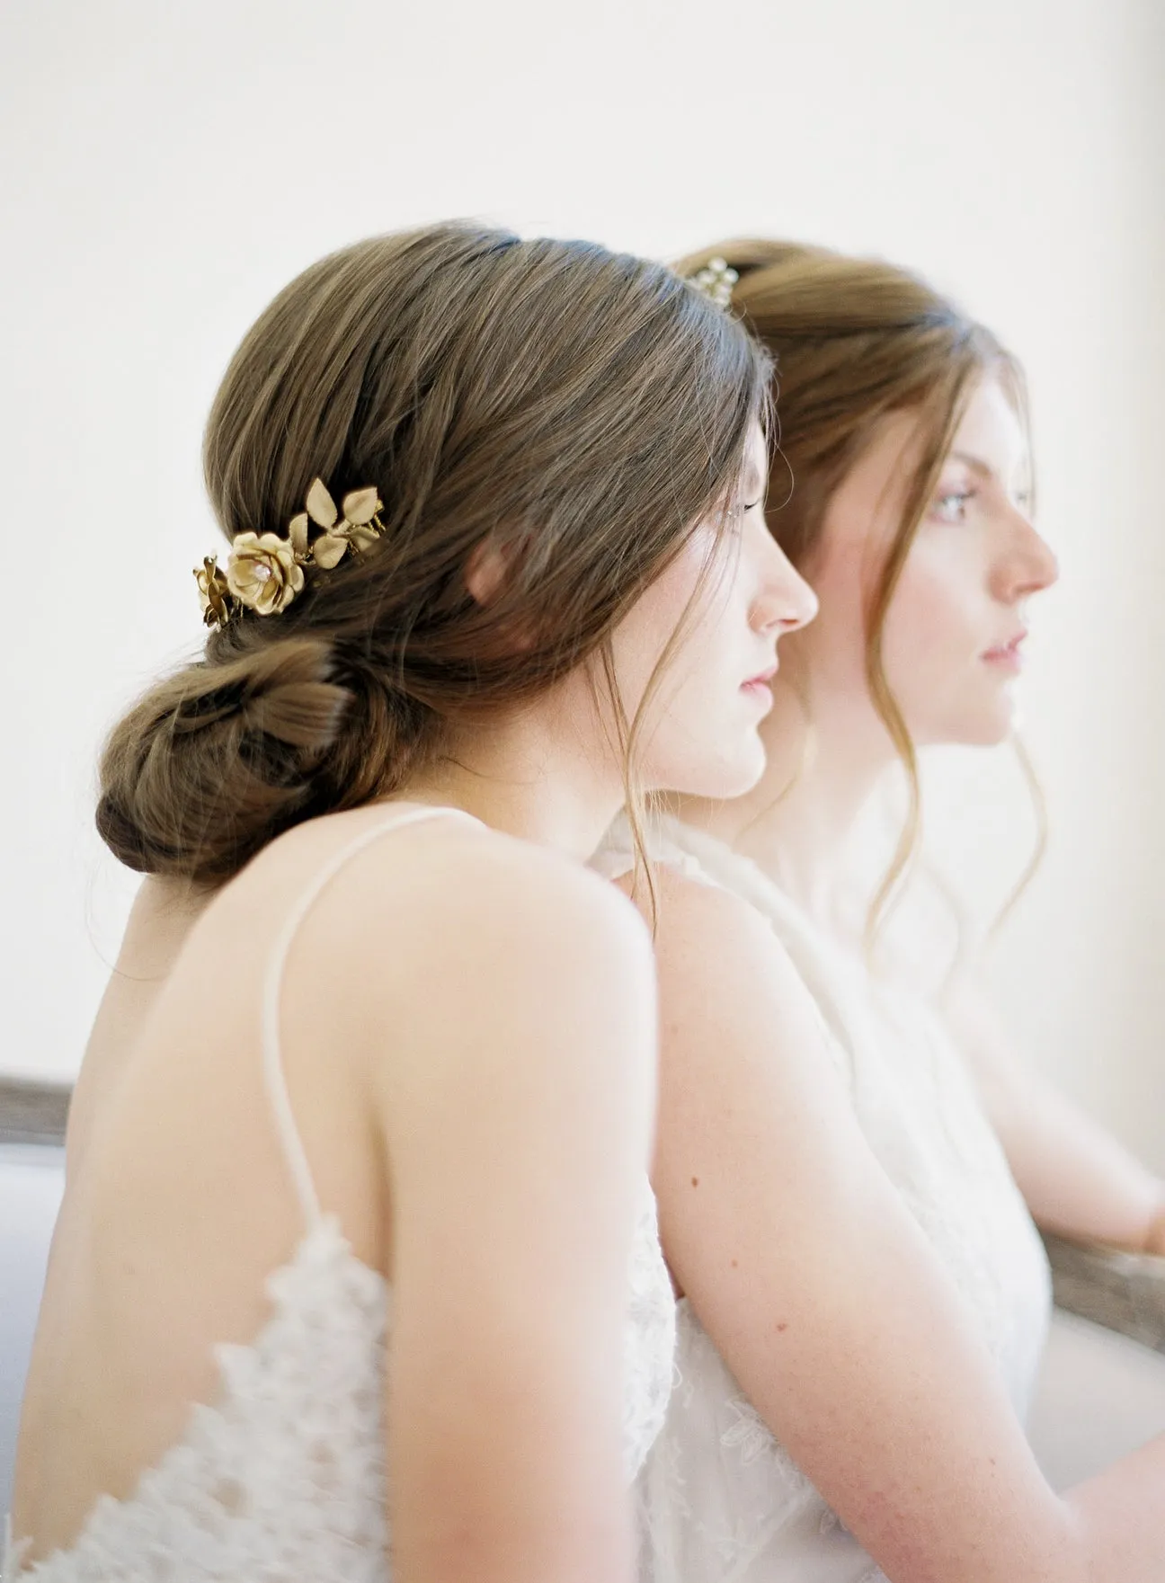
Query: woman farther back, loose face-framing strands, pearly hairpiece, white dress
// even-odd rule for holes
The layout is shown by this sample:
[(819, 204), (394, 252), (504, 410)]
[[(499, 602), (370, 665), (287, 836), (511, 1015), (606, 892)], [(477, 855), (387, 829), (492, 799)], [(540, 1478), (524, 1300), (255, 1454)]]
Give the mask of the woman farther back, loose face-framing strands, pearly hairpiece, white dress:
[[(1056, 576), (1019, 369), (888, 264), (741, 242), (679, 268), (774, 358), (768, 522), (820, 614), (782, 646), (752, 792), (677, 798), (649, 839), (654, 1184), (684, 1292), (655, 1580), (1160, 1583), (1165, 1437), (1059, 1496), (1023, 1415), (1049, 1312), (1032, 1217), (1165, 1252), (1165, 1187), (1024, 1073), (966, 975), (937, 1004), (883, 929), (915, 747), (1010, 735)], [(909, 817), (871, 894), (855, 834), (894, 765)], [(632, 856), (616, 837), (603, 864)]]

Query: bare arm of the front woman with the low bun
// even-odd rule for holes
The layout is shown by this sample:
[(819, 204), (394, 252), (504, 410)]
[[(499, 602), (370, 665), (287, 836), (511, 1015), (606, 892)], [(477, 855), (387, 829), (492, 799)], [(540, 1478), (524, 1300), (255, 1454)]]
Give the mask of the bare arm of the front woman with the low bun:
[(651, 942), (594, 875), (511, 858), (465, 853), (456, 915), (432, 934), (416, 899), (429, 964), (377, 1069), (394, 1577), (630, 1583), (622, 1365)]

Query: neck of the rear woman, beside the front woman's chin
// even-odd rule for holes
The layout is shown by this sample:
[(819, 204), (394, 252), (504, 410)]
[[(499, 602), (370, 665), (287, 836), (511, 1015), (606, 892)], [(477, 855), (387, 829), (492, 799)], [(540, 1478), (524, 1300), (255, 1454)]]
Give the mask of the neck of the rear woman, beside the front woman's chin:
[(752, 792), (730, 803), (679, 798), (673, 806), (836, 926), (853, 912), (858, 818), (896, 763), (893, 744), (866, 700), (855, 706), (852, 692), (815, 697), (810, 714), (784, 673), (761, 738), (768, 761)]

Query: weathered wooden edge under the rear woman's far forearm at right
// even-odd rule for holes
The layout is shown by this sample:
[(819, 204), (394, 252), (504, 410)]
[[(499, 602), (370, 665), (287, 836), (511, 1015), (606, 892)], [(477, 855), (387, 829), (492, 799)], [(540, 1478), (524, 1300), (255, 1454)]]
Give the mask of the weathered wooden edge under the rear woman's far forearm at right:
[(1057, 1308), (1165, 1352), (1165, 1258), (1042, 1235)]

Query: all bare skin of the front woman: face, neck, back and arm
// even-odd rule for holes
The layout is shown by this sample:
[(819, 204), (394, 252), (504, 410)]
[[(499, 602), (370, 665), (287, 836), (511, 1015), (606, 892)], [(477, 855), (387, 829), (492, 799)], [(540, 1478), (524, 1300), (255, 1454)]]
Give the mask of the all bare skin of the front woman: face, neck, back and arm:
[[(698, 526), (614, 633), (633, 711), (690, 617), (647, 714), (649, 785), (733, 795), (763, 765), (768, 697), (742, 684), (806, 594), (774, 546), (736, 543)], [(470, 564), (475, 597), (491, 575), (488, 556)], [(394, 799), (481, 826), (385, 834), (288, 958), (283, 1067), (309, 1164), (393, 1285), (402, 1583), (633, 1574), (620, 1366), (657, 1008), (639, 918), (584, 867), (620, 801), (611, 720), (579, 668), (465, 727)], [(70, 1127), (17, 1450), (28, 1559), (68, 1547), (98, 1494), (133, 1491), (214, 1398), (212, 1346), (263, 1323), (263, 1281), (304, 1228), (263, 1091), (263, 967), (312, 875), (386, 812), (298, 826), (214, 894), (142, 886)]]

